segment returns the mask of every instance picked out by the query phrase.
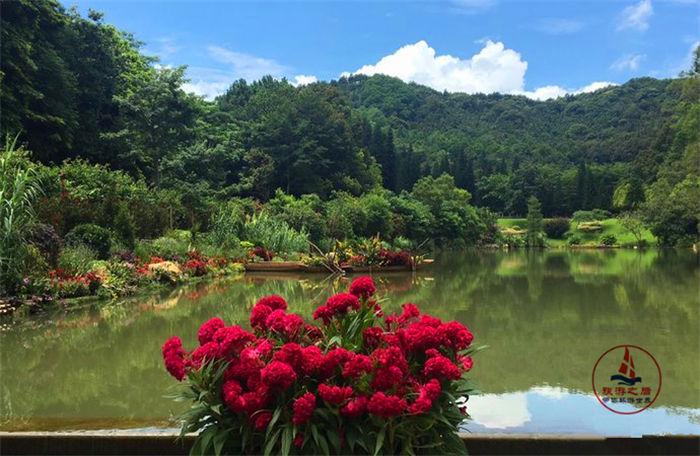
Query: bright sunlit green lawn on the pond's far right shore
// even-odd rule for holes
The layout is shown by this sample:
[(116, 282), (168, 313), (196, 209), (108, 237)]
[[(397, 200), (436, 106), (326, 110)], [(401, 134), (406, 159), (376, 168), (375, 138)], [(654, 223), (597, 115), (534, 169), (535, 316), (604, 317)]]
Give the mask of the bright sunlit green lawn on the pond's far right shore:
[[(546, 219), (545, 219), (546, 220)], [(575, 247), (600, 247), (604, 245), (603, 239), (606, 236), (614, 236), (616, 242), (613, 246), (616, 247), (634, 247), (637, 243), (634, 235), (627, 231), (616, 218), (608, 218), (600, 220), (601, 229), (598, 231), (583, 231), (578, 229), (578, 223), (571, 222), (569, 230), (564, 234), (562, 239), (547, 238), (549, 247), (562, 248), (569, 247), (569, 239), (576, 236), (580, 240)], [(499, 218), (498, 227), (503, 230), (522, 230), (524, 236), (526, 232), (527, 221), (524, 218)], [(651, 231), (645, 229), (642, 233), (642, 239), (649, 246), (654, 246), (657, 243), (656, 237), (651, 234)]]

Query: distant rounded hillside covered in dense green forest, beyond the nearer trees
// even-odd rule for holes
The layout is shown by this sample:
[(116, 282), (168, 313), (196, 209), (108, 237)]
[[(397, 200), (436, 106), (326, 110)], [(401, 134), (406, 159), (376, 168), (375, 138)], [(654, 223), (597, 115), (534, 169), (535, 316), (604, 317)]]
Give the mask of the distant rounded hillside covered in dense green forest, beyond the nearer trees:
[(655, 178), (680, 102), (676, 82), (633, 79), (548, 101), (438, 92), (382, 75), (332, 84), (394, 131), (398, 189), (447, 172), (497, 211), (522, 214), (534, 194), (546, 213), (565, 214), (611, 209), (621, 185)]

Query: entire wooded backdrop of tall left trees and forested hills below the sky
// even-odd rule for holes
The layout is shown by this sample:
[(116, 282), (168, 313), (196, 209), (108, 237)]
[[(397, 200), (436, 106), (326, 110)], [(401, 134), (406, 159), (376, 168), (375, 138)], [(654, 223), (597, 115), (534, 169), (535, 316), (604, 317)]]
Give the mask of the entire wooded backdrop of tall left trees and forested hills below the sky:
[(530, 196), (546, 216), (624, 210), (681, 160), (679, 119), (697, 116), (692, 72), (549, 101), (387, 76), (266, 77), (210, 102), (182, 91), (184, 68), (154, 65), (101, 14), (55, 1), (2, 3), (1, 57), (2, 132), (36, 159), (107, 164), (196, 198), (398, 193), (448, 173), (502, 214), (524, 214)]

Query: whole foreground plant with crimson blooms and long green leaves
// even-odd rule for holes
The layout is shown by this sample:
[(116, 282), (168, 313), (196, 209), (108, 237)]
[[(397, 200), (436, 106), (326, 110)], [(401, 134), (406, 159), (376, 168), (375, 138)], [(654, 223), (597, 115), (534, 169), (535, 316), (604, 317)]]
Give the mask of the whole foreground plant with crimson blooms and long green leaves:
[(220, 318), (202, 325), (199, 346), (173, 336), (165, 367), (191, 401), (182, 432), (194, 453), (462, 454), (457, 425), (472, 391), (472, 333), (404, 304), (384, 315), (371, 278), (331, 296), (313, 314), (287, 312), (267, 296), (252, 332)]

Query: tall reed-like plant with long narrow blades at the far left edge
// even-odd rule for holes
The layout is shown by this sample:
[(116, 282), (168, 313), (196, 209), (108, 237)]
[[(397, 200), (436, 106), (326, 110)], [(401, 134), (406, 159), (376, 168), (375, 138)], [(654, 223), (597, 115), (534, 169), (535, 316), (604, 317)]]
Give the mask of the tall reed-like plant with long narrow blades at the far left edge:
[(34, 202), (41, 193), (29, 154), (17, 138), (5, 139), (0, 154), (0, 295), (11, 293), (21, 279), (27, 259), (27, 240), (34, 223)]

